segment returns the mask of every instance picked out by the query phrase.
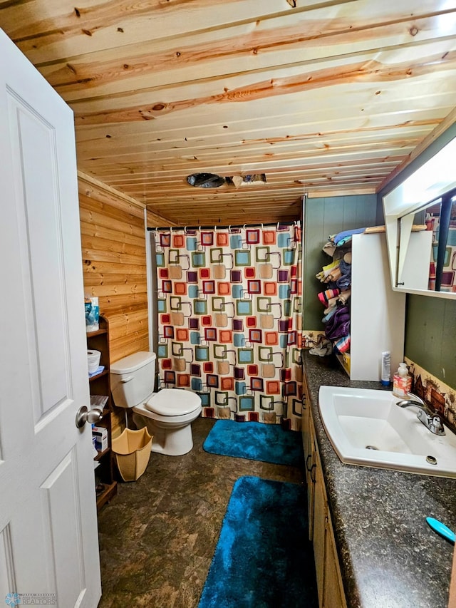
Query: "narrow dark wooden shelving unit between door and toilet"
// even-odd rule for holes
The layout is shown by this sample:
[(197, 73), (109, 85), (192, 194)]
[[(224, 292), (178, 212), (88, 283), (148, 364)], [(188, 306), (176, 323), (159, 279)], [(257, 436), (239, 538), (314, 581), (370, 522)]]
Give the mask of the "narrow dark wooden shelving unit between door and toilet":
[(99, 329), (87, 334), (87, 348), (100, 351), (100, 365), (104, 370), (96, 376), (89, 377), (90, 396), (107, 397), (103, 406), (103, 418), (98, 426), (104, 426), (108, 430), (108, 448), (99, 452), (94, 460), (98, 464), (95, 468), (95, 491), (97, 497), (97, 508), (100, 509), (117, 493), (117, 481), (113, 475), (113, 453), (111, 451), (111, 414), (113, 411), (109, 376), (109, 323), (108, 319), (100, 316)]

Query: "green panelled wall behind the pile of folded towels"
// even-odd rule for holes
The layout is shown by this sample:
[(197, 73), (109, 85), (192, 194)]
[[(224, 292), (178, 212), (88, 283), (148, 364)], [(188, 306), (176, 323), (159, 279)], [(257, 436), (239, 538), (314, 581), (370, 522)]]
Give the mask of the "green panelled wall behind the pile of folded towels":
[(315, 278), (321, 267), (331, 262), (322, 251), (330, 235), (342, 230), (375, 226), (376, 195), (310, 198), (304, 207), (304, 329), (323, 329), (323, 306), (318, 292), (323, 284)]

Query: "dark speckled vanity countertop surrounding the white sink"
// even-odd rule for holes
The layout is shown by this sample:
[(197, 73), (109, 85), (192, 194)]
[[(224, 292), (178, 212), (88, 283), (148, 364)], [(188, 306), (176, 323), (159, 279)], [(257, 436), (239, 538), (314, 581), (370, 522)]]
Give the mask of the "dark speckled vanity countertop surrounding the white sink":
[(456, 480), (341, 463), (318, 388), (382, 386), (351, 381), (332, 356), (305, 351), (304, 369), (348, 607), (447, 608), (454, 547), (425, 518), (456, 530)]

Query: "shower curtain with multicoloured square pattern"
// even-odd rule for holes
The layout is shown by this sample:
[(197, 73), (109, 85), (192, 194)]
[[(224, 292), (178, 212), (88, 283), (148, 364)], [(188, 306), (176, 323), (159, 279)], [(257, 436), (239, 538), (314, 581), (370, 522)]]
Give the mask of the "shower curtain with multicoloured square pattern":
[(157, 230), (160, 388), (202, 416), (301, 428), (299, 225)]

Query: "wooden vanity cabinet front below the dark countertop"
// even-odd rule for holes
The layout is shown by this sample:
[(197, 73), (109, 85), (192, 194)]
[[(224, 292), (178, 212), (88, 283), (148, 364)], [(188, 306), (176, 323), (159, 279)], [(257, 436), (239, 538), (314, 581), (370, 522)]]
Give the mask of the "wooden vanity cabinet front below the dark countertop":
[(305, 383), (304, 390), (306, 403), (302, 436), (306, 461), (309, 537), (314, 543), (318, 604), (320, 608), (347, 608), (314, 421), (310, 411), (309, 393)]

